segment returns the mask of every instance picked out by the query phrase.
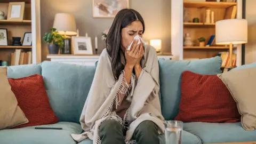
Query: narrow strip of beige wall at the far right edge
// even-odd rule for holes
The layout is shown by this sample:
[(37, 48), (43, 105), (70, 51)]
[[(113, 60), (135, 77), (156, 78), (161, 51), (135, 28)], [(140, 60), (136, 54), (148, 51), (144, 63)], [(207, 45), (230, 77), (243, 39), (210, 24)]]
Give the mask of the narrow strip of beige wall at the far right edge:
[(248, 21), (248, 43), (245, 45), (245, 63), (256, 62), (256, 1), (246, 0), (246, 19)]

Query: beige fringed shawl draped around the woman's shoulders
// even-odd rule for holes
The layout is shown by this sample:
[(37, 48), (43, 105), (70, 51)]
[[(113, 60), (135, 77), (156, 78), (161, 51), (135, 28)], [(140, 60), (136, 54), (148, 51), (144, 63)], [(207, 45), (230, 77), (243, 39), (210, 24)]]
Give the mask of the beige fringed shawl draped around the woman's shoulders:
[[(84, 132), (82, 134), (71, 134), (74, 140), (80, 142), (86, 138), (93, 140), (93, 144), (101, 143), (99, 138), (100, 124), (106, 119), (115, 119), (126, 131), (126, 143), (133, 143), (131, 140), (136, 127), (143, 121), (149, 120), (159, 127), (159, 134), (164, 132), (164, 118), (161, 114), (159, 102), (159, 68), (158, 58), (154, 47), (145, 45), (145, 60), (138, 81), (131, 79), (131, 93), (127, 100), (131, 101), (130, 108), (126, 111), (124, 120), (112, 112), (114, 102), (118, 103), (120, 93), (126, 93), (127, 88), (124, 70), (115, 81), (111, 70), (110, 57), (104, 49), (100, 55), (98, 66), (90, 92), (86, 99), (80, 122)], [(126, 83), (127, 84), (127, 83)]]

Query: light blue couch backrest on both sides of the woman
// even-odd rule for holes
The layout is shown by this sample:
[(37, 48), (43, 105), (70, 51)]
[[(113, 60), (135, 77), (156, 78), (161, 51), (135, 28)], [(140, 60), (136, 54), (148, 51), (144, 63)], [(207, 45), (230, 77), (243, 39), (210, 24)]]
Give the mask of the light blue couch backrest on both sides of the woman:
[[(159, 59), (159, 98), (165, 119), (173, 119), (178, 114), (183, 71), (215, 75), (220, 73), (220, 66), (220, 57), (194, 61)], [(95, 66), (44, 61), (38, 65), (10, 66), (7, 76), (20, 78), (41, 74), (52, 109), (60, 121), (79, 123), (94, 73)]]

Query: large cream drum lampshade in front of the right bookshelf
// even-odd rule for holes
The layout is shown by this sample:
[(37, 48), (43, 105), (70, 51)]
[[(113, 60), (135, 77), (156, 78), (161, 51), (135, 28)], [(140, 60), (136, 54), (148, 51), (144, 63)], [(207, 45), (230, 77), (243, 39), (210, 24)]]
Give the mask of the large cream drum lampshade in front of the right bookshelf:
[(215, 23), (215, 43), (219, 45), (247, 43), (247, 20), (226, 19)]

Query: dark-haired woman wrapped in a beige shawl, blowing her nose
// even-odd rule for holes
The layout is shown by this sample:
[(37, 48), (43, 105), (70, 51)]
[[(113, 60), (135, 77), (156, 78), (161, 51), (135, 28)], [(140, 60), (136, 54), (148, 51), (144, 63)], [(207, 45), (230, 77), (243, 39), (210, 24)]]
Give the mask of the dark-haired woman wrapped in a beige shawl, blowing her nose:
[(102, 144), (159, 143), (164, 118), (158, 97), (157, 54), (154, 47), (142, 44), (142, 38), (133, 41), (144, 32), (137, 11), (117, 13), (82, 111), (84, 133), (72, 135), (77, 142), (90, 138)]

